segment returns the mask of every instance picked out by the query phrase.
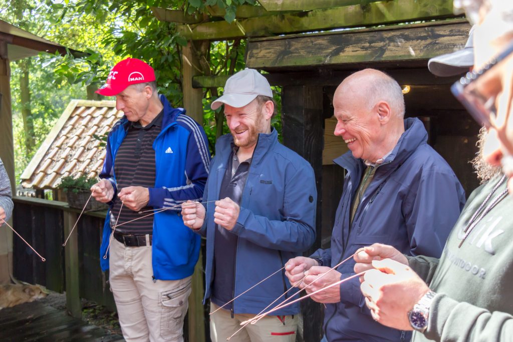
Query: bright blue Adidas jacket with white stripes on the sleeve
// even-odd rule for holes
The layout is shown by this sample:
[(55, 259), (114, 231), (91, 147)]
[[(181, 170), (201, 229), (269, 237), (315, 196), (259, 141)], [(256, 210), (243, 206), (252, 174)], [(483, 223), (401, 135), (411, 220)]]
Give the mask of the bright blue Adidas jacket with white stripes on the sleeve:
[[(173, 108), (165, 96), (162, 131), (153, 142), (155, 150), (155, 187), (149, 188), (148, 206), (155, 209), (169, 208), (186, 200), (201, 200), (208, 177), (210, 152), (203, 128), (182, 108)], [(107, 153), (100, 178), (107, 178), (114, 187), (113, 200), (117, 197), (114, 160), (116, 152), (127, 134), (130, 122), (123, 116), (109, 133)], [(110, 203), (113, 205), (113, 202)], [(152, 266), (156, 279), (176, 280), (190, 276), (198, 261), (200, 237), (184, 225), (177, 207), (153, 216)], [(121, 223), (121, 222), (120, 222)], [(102, 270), (109, 268), (104, 259), (109, 244), (110, 209), (105, 219), (100, 247)]]

